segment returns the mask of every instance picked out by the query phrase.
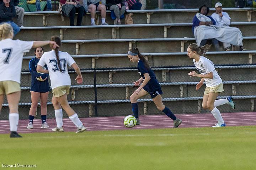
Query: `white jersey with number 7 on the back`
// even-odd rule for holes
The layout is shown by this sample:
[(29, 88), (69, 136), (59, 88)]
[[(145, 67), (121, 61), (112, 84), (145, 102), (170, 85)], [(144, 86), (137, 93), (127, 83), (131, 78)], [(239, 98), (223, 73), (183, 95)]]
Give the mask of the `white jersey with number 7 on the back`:
[(33, 42), (12, 40), (0, 41), (0, 81), (20, 83), (23, 53), (29, 52)]

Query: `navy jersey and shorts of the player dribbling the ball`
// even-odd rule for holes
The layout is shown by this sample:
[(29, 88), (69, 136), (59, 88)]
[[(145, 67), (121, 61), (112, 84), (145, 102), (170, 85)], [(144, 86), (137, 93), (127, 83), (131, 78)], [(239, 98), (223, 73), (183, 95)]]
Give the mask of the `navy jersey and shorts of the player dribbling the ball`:
[(151, 98), (154, 98), (158, 94), (162, 94), (161, 86), (156, 79), (155, 73), (151, 68), (146, 68), (143, 61), (140, 59), (138, 61), (138, 71), (139, 75), (142, 76), (143, 79), (145, 79), (145, 76), (143, 75), (145, 73), (148, 73), (150, 76), (149, 82), (143, 87), (143, 89), (151, 95)]

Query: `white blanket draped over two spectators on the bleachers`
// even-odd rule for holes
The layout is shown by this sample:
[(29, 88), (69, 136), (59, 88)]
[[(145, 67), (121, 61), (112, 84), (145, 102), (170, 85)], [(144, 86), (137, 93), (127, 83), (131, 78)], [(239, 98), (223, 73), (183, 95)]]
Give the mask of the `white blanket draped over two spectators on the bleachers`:
[[(197, 13), (199, 21), (206, 22), (212, 21), (209, 17)], [(242, 33), (240, 29), (229, 26), (215, 26), (215, 25), (199, 25), (194, 28), (194, 37), (196, 38), (197, 45), (199, 46), (203, 39), (217, 39), (223, 43), (230, 43), (233, 45), (242, 45)]]

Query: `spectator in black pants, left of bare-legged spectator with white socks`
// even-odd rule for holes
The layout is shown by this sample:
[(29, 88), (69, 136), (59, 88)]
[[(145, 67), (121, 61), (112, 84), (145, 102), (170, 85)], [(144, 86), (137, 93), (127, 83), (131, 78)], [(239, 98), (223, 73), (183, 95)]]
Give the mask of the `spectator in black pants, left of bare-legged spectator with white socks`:
[[(76, 26), (81, 26), (82, 17), (84, 15), (84, 7), (79, 4), (79, 0), (60, 0), (60, 6), (58, 10), (62, 15), (69, 16), (70, 26), (74, 26), (75, 13), (78, 13)], [(62, 20), (64, 18), (62, 17)]]

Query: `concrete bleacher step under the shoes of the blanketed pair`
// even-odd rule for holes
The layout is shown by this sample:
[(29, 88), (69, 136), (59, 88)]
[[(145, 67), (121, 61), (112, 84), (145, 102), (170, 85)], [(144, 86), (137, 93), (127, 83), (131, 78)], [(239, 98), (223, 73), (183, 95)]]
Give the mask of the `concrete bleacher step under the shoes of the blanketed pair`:
[[(127, 49), (128, 51), (128, 49)], [(141, 51), (142, 52), (142, 51)], [(207, 58), (215, 65), (225, 64), (252, 64), (256, 63), (256, 50), (251, 51), (219, 51), (208, 52)], [(193, 64), (187, 53), (142, 53), (151, 67), (159, 66), (186, 66)], [(118, 68), (137, 67), (129, 61), (127, 52), (124, 54), (98, 54), (72, 56), (80, 68)], [(22, 70), (28, 70), (28, 63), (32, 57), (23, 57)]]

